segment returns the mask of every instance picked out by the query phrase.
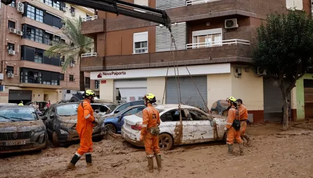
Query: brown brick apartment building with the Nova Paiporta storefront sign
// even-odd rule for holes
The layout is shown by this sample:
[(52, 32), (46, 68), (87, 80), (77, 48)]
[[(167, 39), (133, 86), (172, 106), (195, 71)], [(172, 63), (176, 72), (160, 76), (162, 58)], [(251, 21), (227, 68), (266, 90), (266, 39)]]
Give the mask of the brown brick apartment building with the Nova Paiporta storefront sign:
[[(101, 99), (132, 101), (154, 93), (158, 104), (177, 103), (180, 92), (183, 103), (211, 108), (215, 101), (235, 96), (254, 122), (281, 119), (281, 92), (275, 80), (252, 67), (251, 44), (267, 14), (289, 8), (309, 13), (310, 0), (127, 2), (166, 10), (177, 49), (173, 57), (170, 32), (159, 24), (97, 11), (82, 24), (82, 33), (94, 38), (96, 47), (82, 58), (81, 70), (100, 81)], [(297, 118), (295, 89), (289, 99)]]

